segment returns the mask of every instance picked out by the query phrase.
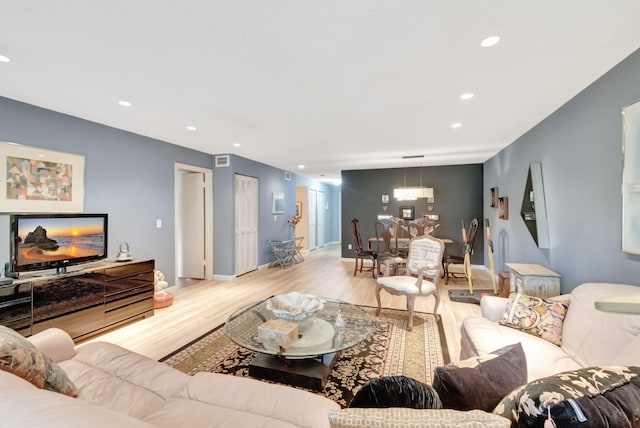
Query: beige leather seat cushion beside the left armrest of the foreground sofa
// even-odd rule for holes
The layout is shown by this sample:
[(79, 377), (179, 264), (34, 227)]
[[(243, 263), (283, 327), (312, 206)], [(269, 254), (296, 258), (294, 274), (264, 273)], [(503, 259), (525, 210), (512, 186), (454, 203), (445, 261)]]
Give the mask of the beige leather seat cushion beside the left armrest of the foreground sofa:
[(78, 398), (143, 417), (164, 405), (190, 376), (166, 364), (107, 342), (78, 348), (60, 365), (78, 386)]

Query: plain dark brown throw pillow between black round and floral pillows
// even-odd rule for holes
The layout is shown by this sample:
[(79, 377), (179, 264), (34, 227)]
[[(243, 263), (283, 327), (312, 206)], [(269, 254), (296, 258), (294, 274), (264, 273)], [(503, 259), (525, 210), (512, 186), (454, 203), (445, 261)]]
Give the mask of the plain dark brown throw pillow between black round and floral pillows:
[(436, 367), (433, 376), (443, 407), (456, 410), (490, 412), (511, 390), (525, 383), (527, 359), (520, 343)]

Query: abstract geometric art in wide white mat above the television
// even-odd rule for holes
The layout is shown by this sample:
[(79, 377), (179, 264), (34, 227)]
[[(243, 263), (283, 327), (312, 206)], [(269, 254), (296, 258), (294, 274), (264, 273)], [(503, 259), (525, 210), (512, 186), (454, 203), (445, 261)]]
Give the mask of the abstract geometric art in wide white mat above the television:
[(82, 212), (84, 156), (0, 142), (0, 212)]

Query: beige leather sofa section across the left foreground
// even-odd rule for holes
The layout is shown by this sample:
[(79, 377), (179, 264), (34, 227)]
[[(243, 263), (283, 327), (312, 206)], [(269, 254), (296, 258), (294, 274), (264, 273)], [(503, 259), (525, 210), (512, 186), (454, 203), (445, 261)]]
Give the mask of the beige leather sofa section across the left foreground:
[(339, 406), (281, 385), (214, 373), (188, 376), (117, 345), (75, 348), (62, 330), (29, 338), (64, 369), (77, 398), (0, 370), (3, 427), (328, 427)]

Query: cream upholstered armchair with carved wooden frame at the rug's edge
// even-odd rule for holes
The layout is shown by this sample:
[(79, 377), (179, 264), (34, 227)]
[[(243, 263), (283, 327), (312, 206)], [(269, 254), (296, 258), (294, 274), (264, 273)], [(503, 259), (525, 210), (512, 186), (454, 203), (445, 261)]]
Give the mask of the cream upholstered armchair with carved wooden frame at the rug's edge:
[(436, 301), (433, 313), (438, 312), (440, 296), (438, 295), (438, 281), (440, 280), (440, 265), (444, 253), (444, 242), (433, 236), (424, 235), (414, 238), (409, 243), (409, 257), (405, 268), (405, 275), (379, 277), (376, 286), (376, 300), (380, 314), (380, 291), (393, 295), (407, 296), (407, 311), (409, 321), (407, 330), (413, 330), (413, 306), (416, 297), (432, 295)]

